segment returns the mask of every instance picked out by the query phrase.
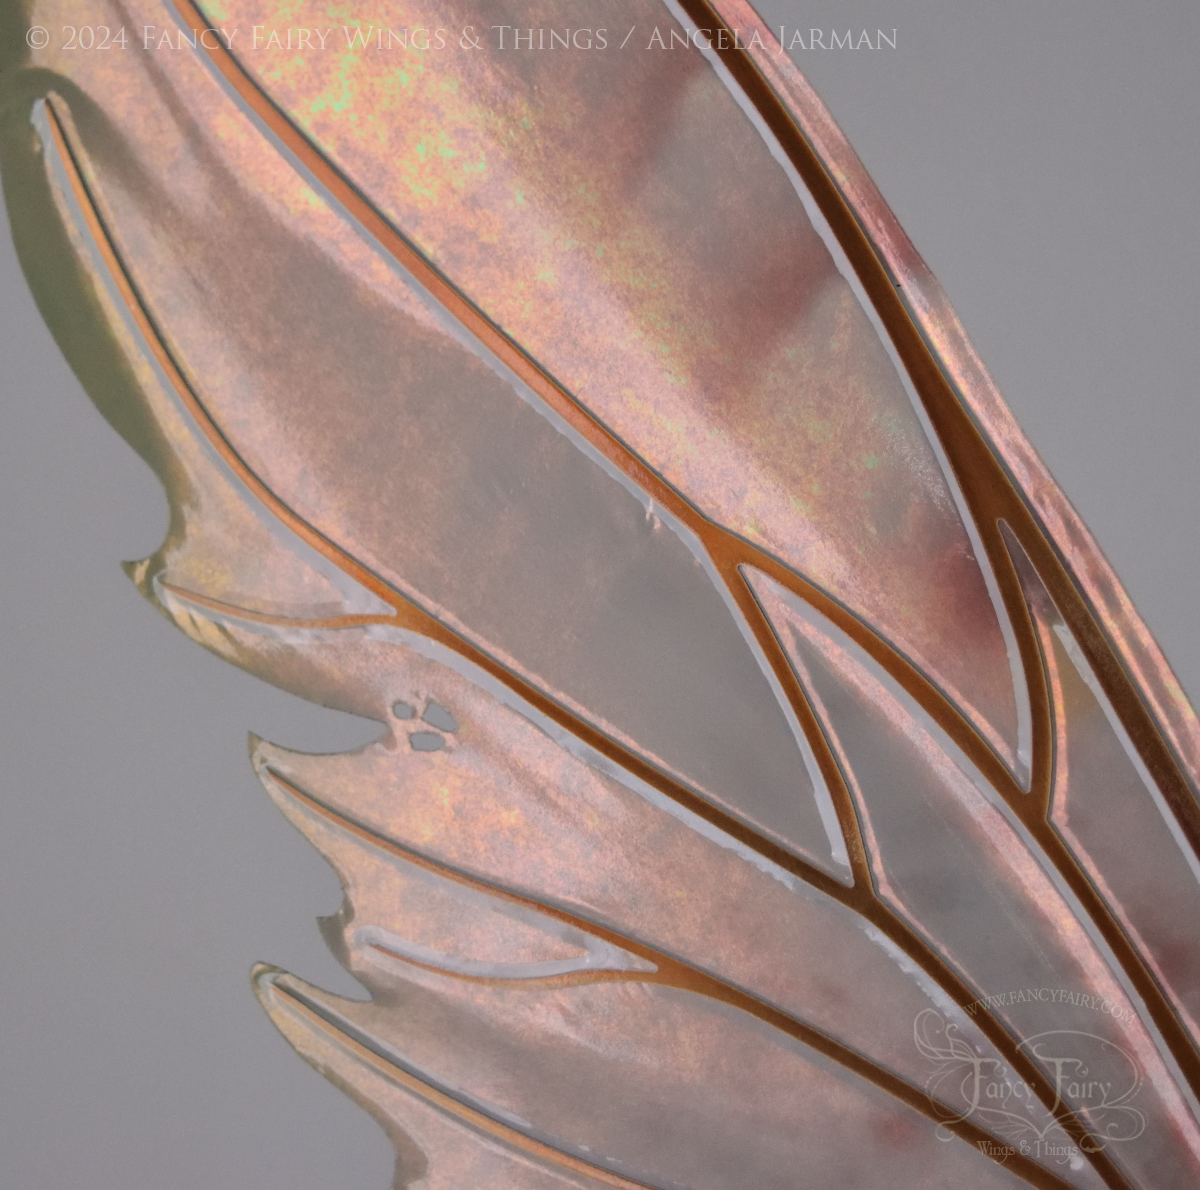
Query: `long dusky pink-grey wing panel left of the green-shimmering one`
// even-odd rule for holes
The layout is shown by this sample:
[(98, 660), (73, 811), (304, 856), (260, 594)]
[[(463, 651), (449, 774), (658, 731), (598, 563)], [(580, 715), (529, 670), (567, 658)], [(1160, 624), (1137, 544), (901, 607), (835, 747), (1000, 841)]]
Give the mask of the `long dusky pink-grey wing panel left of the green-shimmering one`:
[(160, 68), (134, 59), (104, 119), (59, 109), (146, 314), (241, 462), (557, 702), (845, 877), (698, 542), (365, 245), (202, 64)]

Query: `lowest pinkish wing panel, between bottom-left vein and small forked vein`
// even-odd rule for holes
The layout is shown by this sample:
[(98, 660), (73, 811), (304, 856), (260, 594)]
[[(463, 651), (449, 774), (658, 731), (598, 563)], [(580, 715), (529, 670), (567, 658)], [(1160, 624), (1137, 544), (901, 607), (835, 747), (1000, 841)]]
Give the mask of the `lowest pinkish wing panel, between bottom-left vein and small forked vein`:
[[(822, 1185), (863, 1190), (1020, 1185), (820, 1056), (686, 992), (629, 982), (540, 994), (458, 987), (433, 1000), (422, 982), (372, 1005), (289, 976), (266, 994), (275, 1014), (292, 1008), (288, 997), (343, 1036), (372, 1029), (370, 1050), (413, 1081), (456, 1104), (466, 1099), (485, 1119), (536, 1131), (544, 1150), (582, 1159), (594, 1176), (616, 1173), (617, 1185), (790, 1190), (798, 1167)], [(440, 1077), (420, 1063), (430, 1039)], [(666, 1068), (646, 1057), (664, 1047), (682, 1047), (692, 1062), (660, 1078)], [(859, 1138), (853, 1152), (841, 1141), (847, 1124)], [(590, 1143), (570, 1144), (564, 1130)]]

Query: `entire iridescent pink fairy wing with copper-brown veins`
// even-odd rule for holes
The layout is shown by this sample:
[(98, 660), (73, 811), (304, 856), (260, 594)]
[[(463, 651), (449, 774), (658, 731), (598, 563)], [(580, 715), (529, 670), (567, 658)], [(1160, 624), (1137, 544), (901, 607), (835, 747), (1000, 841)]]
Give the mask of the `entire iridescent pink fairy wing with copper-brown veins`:
[(4, 17), (128, 31), (7, 62), (4, 166), (132, 578), (386, 725), (253, 745), (370, 992), (271, 1018), (397, 1186), (1200, 1184), (1195, 717), (1111, 571), (746, 5), (493, 10)]

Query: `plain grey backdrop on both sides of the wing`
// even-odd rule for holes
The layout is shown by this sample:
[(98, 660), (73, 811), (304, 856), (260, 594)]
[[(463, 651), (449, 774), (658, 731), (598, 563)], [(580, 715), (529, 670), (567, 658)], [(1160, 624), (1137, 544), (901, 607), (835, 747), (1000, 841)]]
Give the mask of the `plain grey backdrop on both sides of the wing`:
[[(1200, 8), (766, 2), (899, 30), (798, 53), (1018, 419), (1200, 693), (1193, 465)], [(295, 1058), (259, 958), (348, 990), (336, 882), (246, 732), (370, 738), (218, 662), (121, 559), (157, 483), (80, 391), (0, 236), (0, 1177), (90, 1190), (383, 1188), (390, 1148)]]

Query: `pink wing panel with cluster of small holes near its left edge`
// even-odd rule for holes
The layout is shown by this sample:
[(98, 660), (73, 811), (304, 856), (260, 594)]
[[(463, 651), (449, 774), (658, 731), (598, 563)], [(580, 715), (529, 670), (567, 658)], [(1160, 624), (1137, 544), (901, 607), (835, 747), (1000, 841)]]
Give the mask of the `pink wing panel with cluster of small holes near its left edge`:
[[(374, 891), (362, 895), (385, 878), (380, 865), (396, 863), (385, 860), (386, 848), (400, 848), (490, 889), (556, 907), (577, 919), (576, 930), (590, 921), (636, 940), (658, 955), (648, 958), (656, 966), (683, 958), (871, 1054), (913, 1087), (924, 1083), (928, 1065), (913, 1046), (912, 1022), (928, 1009), (947, 1011), (947, 1000), (878, 931), (832, 897), (682, 815), (628, 775), (596, 771), (586, 753), (572, 755), (577, 743), (554, 743), (536, 722), (412, 645), (348, 630), (312, 639), (302, 656), (288, 657), (246, 625), (227, 621), (226, 630), (236, 644), (232, 656), (298, 692), (336, 690), (330, 679), (349, 659), (359, 689), (382, 686), (380, 701), (432, 691), (462, 723), (436, 755), (406, 747), (406, 728), (395, 741), (348, 757), (268, 744), (256, 751), (268, 792), (330, 857), (353, 897), (354, 913), (338, 925), (337, 942), (352, 966), (377, 939), (372, 933), (359, 940), (358, 931), (385, 920), (389, 932), (426, 948), (460, 954), (467, 946), (431, 942), (420, 903), (397, 901), (385, 919)], [(506, 921), (500, 926), (511, 932)], [(470, 936), (485, 928), (492, 926), (480, 922)], [(480, 952), (481, 942), (472, 945)], [(578, 939), (574, 946), (576, 956), (595, 949)], [(565, 955), (546, 946), (540, 957)], [(622, 961), (637, 969), (630, 963)], [(955, 1021), (973, 1045), (989, 1050), (965, 1015), (955, 1012)]]

